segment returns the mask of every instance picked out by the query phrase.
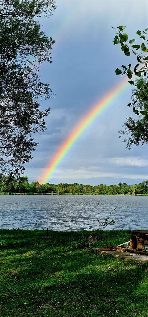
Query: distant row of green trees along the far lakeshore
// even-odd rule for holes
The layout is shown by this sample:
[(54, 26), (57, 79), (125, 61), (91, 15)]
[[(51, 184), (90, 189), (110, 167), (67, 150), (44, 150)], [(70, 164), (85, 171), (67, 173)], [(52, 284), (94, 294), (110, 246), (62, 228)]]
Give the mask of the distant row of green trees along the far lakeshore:
[(93, 194), (93, 195), (138, 195), (148, 194), (148, 181), (143, 181), (139, 184), (127, 185), (126, 183), (119, 182), (118, 185), (105, 185), (100, 184), (96, 186), (83, 185), (83, 184), (40, 184), (32, 182), (29, 184), (27, 176), (14, 176), (0, 175), (0, 192), (4, 193), (37, 193), (37, 194)]

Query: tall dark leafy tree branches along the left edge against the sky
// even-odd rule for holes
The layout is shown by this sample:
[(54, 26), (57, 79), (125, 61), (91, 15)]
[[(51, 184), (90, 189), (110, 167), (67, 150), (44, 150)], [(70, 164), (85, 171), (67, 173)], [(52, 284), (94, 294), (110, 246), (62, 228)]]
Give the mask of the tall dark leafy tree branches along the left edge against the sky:
[(4, 175), (23, 173), (37, 143), (33, 134), (46, 130), (39, 99), (53, 96), (39, 77), (38, 64), (51, 63), (54, 44), (36, 18), (51, 15), (53, 0), (0, 1), (0, 169)]

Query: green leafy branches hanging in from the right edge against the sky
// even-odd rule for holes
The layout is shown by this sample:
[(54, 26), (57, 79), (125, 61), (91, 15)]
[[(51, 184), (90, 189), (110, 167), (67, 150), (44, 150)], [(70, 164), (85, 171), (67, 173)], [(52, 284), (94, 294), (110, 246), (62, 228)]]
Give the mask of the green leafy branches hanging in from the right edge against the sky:
[[(134, 54), (137, 61), (135, 65), (131, 66), (131, 63), (121, 65), (121, 69), (115, 70), (116, 75), (127, 75), (128, 82), (131, 85), (135, 85), (135, 89), (132, 90), (132, 102), (128, 104), (128, 107), (133, 107), (133, 112), (139, 116), (138, 120), (132, 117), (127, 117), (124, 123), (125, 130), (120, 130), (121, 135), (125, 136), (123, 142), (126, 142), (126, 147), (131, 149), (132, 145), (141, 145), (148, 143), (148, 41), (147, 30), (138, 30), (136, 34), (139, 36), (137, 43), (136, 39), (128, 41), (128, 34), (123, 33), (125, 26), (121, 25), (114, 28), (117, 33), (114, 37), (113, 43), (120, 44), (121, 50), (126, 56)], [(136, 41), (136, 42), (135, 42)], [(137, 78), (137, 79), (136, 79)]]

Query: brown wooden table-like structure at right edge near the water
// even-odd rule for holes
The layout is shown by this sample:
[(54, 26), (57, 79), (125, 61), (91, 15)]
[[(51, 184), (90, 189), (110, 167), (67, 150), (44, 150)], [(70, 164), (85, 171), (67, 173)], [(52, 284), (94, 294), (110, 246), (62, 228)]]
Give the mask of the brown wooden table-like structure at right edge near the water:
[(131, 230), (130, 249), (145, 250), (145, 245), (148, 244), (148, 230)]

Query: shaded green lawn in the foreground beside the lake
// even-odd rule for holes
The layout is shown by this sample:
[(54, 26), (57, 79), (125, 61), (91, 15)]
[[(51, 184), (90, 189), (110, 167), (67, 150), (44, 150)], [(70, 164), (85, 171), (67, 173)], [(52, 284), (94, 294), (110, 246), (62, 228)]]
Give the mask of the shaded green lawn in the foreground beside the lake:
[[(83, 231), (0, 230), (1, 317), (146, 317), (146, 263), (102, 256)], [(126, 230), (107, 230), (117, 245)], [(100, 245), (100, 231), (95, 246)], [(104, 236), (104, 237), (105, 237)]]

